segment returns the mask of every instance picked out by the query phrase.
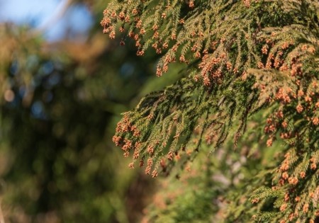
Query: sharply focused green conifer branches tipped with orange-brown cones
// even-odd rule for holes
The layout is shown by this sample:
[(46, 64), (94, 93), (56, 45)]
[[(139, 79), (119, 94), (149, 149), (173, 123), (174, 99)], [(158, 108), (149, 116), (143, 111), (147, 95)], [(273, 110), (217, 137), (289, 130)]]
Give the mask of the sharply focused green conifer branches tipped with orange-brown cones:
[[(113, 142), (125, 156), (133, 153), (131, 168), (145, 165), (156, 177), (193, 161), (203, 144), (213, 151), (233, 138), (236, 147), (249, 118), (269, 113), (259, 122), (267, 147), (275, 140), (284, 147), (276, 148), (276, 165), (259, 175), (249, 195), (252, 219), (315, 222), (318, 1), (112, 1), (101, 25), (110, 38), (122, 38), (121, 45), (132, 38), (138, 56), (155, 50), (157, 76), (174, 62), (188, 67), (177, 83), (145, 96), (118, 122)], [(262, 211), (265, 203), (271, 208)]]

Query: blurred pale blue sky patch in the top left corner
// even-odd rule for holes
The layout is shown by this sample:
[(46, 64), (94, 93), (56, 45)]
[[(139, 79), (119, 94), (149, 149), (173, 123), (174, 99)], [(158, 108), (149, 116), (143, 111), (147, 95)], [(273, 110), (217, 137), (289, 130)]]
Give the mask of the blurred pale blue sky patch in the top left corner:
[(0, 0), (0, 22), (13, 22), (45, 28), (49, 41), (66, 36), (81, 39), (93, 24), (88, 8), (83, 4), (70, 7), (64, 16), (59, 16), (67, 0)]

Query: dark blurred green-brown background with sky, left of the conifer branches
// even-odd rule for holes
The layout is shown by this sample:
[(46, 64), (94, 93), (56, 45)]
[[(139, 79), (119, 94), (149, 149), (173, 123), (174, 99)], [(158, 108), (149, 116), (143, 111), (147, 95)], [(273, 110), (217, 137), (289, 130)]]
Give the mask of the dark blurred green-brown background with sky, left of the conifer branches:
[[(0, 0), (5, 222), (138, 222), (155, 180), (113, 146), (121, 113), (174, 81), (99, 23), (108, 0)], [(174, 69), (172, 69), (174, 72)], [(1, 219), (0, 219), (1, 222)]]

